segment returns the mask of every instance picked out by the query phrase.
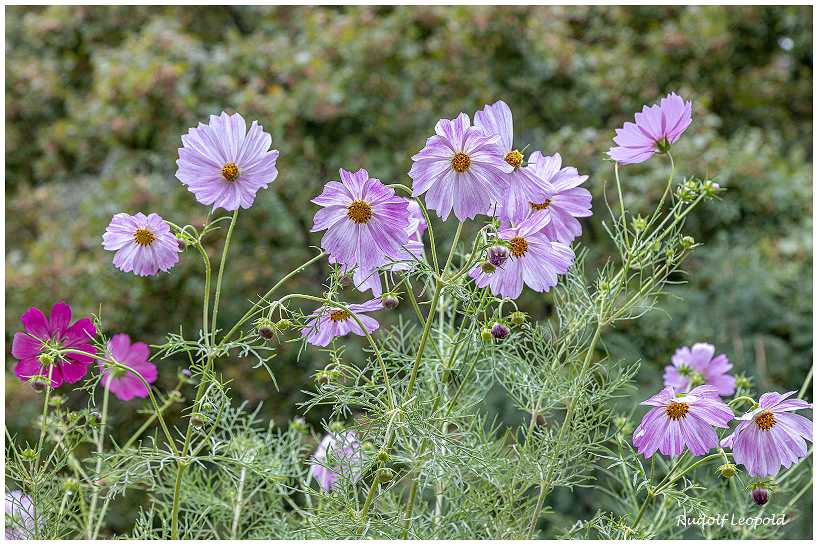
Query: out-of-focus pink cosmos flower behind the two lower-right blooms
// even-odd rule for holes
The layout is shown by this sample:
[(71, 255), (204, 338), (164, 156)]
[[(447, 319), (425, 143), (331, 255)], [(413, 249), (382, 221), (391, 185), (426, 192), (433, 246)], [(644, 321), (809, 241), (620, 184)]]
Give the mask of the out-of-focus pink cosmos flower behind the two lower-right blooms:
[(735, 393), (735, 377), (727, 375), (733, 364), (724, 354), (717, 355), (716, 347), (707, 342), (697, 342), (692, 348), (682, 346), (670, 359), (672, 365), (665, 368), (662, 375), (665, 386), (673, 386), (676, 394), (690, 390), (691, 386), (711, 384), (719, 395)]

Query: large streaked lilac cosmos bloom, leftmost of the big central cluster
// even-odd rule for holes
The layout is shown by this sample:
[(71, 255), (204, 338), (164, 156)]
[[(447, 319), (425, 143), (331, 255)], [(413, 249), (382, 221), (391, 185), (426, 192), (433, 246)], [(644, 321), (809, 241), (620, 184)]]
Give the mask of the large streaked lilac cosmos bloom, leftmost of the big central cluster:
[(324, 208), (315, 213), (310, 232), (326, 229), (321, 248), (335, 261), (371, 270), (384, 256), (397, 257), (407, 243), (407, 202), (363, 168), (354, 173), (341, 168), (340, 175), (340, 182), (328, 181), (312, 199)]

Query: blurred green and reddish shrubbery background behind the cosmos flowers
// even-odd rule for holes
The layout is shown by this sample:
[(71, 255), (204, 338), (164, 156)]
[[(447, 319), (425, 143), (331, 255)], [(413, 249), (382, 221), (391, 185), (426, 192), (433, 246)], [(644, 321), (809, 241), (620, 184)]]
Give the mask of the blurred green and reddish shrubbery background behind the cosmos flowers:
[[(101, 305), (107, 335), (149, 344), (179, 324), (196, 336), (198, 254), (189, 249), (170, 274), (140, 278), (115, 269), (101, 235), (117, 212), (202, 224), (208, 208), (173, 174), (180, 136), (210, 114), (257, 119), (281, 152), (276, 181), (239, 214), (219, 311), (229, 326), (248, 299), (316, 255), (309, 199), (339, 168), (408, 185), (411, 155), (439, 118), (473, 117), (498, 100), (514, 113), (515, 145), (559, 152), (564, 166), (590, 176), (595, 215), (575, 243), (590, 250), (590, 274), (612, 250), (601, 222), (613, 129), (671, 91), (693, 101), (693, 123), (673, 146), (676, 179), (718, 176), (726, 191), (685, 226), (704, 246), (685, 264), (687, 283), (672, 289), (680, 298), (662, 302), (667, 315), (618, 324), (604, 341), (614, 359), (642, 361), (632, 401), (658, 391), (670, 356), (694, 342), (726, 353), (759, 391), (797, 390), (812, 360), (811, 6), (6, 7), (7, 426), (32, 438), (42, 410), (11, 357), (31, 306), (47, 314), (65, 301), (78, 319)], [(620, 172), (628, 210), (646, 215), (667, 159)], [(453, 230), (435, 225), (441, 239)], [(223, 232), (209, 236), (214, 263), (222, 241)], [(321, 261), (286, 288), (320, 293), (328, 270)], [(519, 304), (547, 319), (551, 295), (527, 289)], [(397, 312), (378, 319), (389, 327)], [(360, 347), (352, 339), (346, 356), (361, 358)], [(327, 363), (313, 347), (297, 354), (297, 344), (283, 344), (272, 360), (278, 390), (252, 360), (225, 359), (218, 370), (234, 381), (236, 400), (263, 401), (264, 417), (286, 425)], [(164, 390), (185, 366), (155, 363)], [(60, 393), (71, 396), (70, 386)], [(128, 436), (142, 402), (113, 403), (115, 434)], [(74, 394), (70, 404), (83, 409), (85, 400)], [(509, 425), (521, 420), (501, 391), (487, 410)], [(327, 416), (306, 418), (320, 427)], [(555, 528), (600, 507), (592, 490), (564, 493)], [(133, 506), (110, 512), (112, 527), (126, 531)], [(811, 538), (807, 519), (788, 537)]]

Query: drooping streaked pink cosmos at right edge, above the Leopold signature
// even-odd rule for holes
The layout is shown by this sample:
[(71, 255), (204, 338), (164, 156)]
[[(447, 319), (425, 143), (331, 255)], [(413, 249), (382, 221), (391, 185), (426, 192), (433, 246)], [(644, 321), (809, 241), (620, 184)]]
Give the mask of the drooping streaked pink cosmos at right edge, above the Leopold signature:
[(781, 466), (790, 467), (807, 457), (812, 442), (812, 422), (790, 411), (812, 409), (804, 400), (787, 400), (795, 391), (762, 394), (758, 407), (741, 415), (739, 425), (721, 446), (733, 449), (733, 459), (747, 468), (750, 476), (775, 476)]

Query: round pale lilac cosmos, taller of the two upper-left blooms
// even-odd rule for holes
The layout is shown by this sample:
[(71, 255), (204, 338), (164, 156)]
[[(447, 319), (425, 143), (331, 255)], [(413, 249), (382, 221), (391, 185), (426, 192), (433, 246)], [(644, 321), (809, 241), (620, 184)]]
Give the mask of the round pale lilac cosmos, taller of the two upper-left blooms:
[(202, 204), (213, 210), (250, 208), (255, 194), (278, 176), (278, 150), (270, 150), (272, 136), (258, 121), (247, 130), (239, 114), (210, 116), (182, 135), (176, 177)]

